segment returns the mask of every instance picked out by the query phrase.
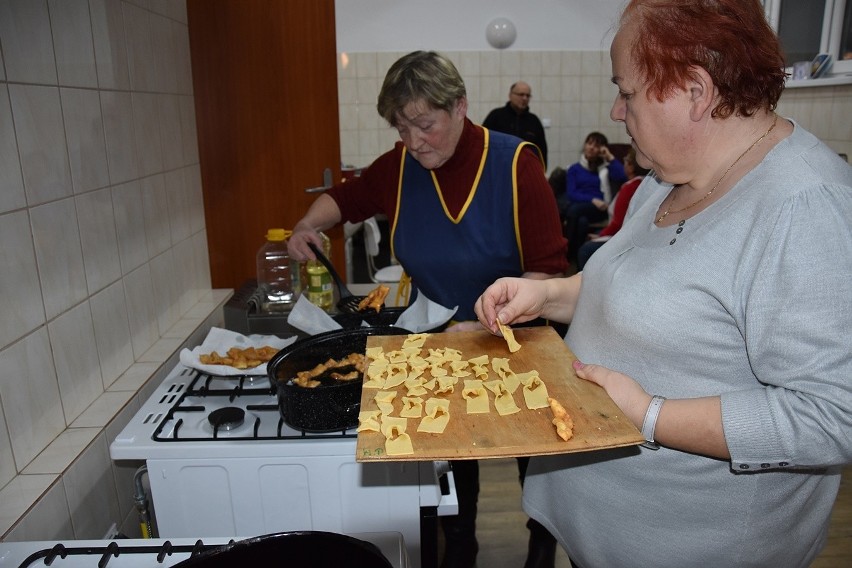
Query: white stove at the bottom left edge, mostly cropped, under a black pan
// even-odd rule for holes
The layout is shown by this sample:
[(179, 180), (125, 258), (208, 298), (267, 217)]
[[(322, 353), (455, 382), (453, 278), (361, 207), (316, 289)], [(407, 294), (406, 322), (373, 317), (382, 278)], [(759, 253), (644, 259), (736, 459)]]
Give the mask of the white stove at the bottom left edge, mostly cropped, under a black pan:
[[(409, 566), (402, 535), (353, 533), (374, 544), (394, 568)], [(28, 568), (162, 568), (243, 539), (175, 538), (0, 542), (0, 566)]]

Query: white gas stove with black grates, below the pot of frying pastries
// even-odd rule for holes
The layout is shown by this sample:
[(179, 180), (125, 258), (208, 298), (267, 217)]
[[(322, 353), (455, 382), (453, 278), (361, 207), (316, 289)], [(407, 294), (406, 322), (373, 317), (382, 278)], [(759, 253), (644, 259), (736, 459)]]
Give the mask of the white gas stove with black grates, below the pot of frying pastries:
[(289, 426), (265, 375), (178, 365), (110, 455), (145, 460), (160, 538), (394, 531), (412, 567), (435, 566), (437, 517), (458, 512), (447, 463), (358, 463), (356, 438)]

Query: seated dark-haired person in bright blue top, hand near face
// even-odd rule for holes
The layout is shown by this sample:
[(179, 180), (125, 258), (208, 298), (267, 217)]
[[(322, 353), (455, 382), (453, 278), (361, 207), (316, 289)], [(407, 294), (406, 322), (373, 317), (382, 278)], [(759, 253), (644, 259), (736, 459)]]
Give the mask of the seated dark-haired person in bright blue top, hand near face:
[(586, 242), (589, 224), (607, 219), (610, 201), (627, 181), (624, 166), (612, 155), (608, 144), (600, 132), (586, 136), (580, 161), (565, 173), (565, 193), (556, 196), (570, 261), (576, 260), (580, 245)]

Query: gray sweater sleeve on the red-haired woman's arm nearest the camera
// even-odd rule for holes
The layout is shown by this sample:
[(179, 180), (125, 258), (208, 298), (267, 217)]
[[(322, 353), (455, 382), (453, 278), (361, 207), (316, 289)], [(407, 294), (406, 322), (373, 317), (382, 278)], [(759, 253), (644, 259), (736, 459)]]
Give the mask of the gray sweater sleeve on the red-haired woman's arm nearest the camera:
[(745, 347), (762, 386), (722, 396), (735, 470), (852, 462), (850, 191), (794, 192), (762, 220), (766, 246), (741, 259)]

